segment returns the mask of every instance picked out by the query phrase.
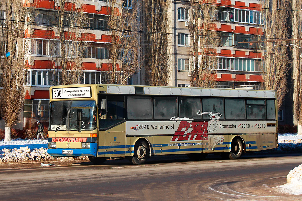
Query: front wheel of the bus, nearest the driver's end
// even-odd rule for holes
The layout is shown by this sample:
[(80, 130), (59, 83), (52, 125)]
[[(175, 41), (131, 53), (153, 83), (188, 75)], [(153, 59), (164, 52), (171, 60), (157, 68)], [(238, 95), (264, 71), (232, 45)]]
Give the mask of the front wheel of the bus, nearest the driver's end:
[(139, 140), (134, 146), (134, 155), (129, 158), (133, 165), (145, 164), (149, 158), (149, 146), (144, 140)]

